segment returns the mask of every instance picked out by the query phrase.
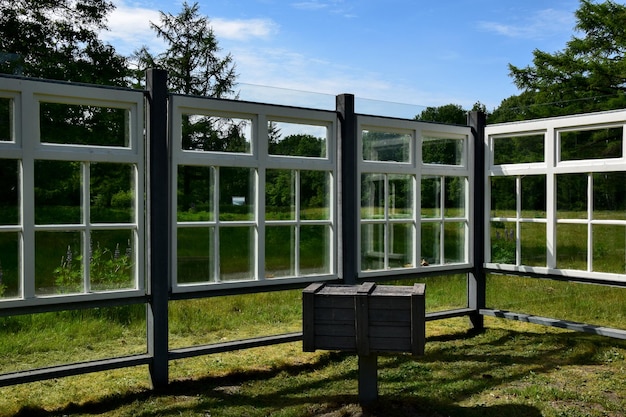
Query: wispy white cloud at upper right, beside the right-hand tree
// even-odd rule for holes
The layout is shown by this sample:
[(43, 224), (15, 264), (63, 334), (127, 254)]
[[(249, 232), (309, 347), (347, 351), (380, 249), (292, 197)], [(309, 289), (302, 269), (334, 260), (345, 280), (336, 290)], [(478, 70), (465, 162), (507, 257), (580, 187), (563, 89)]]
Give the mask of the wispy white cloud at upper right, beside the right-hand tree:
[(544, 39), (563, 30), (571, 31), (574, 23), (571, 11), (543, 9), (514, 23), (479, 21), (478, 27), (510, 38)]

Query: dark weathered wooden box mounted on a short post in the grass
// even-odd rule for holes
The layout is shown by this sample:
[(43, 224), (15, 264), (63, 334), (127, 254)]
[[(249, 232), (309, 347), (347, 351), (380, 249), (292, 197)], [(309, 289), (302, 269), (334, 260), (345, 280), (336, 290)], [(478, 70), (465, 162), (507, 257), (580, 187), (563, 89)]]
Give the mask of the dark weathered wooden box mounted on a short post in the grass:
[(424, 292), (424, 284), (311, 284), (302, 293), (303, 350), (423, 355)]

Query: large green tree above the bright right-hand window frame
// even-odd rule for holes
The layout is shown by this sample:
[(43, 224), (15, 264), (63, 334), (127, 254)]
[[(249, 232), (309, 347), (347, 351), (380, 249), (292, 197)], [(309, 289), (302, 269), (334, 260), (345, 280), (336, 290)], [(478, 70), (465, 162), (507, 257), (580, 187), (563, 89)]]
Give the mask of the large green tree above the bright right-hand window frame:
[(515, 85), (526, 94), (524, 104), (549, 104), (528, 116), (536, 111), (554, 116), (626, 105), (626, 5), (581, 0), (576, 19), (575, 28), (583, 36), (572, 37), (563, 51), (535, 50), (533, 64), (525, 68), (509, 64)]

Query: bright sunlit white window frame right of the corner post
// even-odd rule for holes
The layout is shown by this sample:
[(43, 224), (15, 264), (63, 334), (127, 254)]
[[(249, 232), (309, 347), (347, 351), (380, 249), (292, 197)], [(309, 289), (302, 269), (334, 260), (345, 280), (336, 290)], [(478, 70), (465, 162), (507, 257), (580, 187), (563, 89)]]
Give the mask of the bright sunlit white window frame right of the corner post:
[[(622, 156), (607, 159), (580, 159), (571, 161), (560, 160), (560, 132), (584, 131), (604, 128), (622, 127)], [(521, 164), (494, 164), (494, 141), (504, 137), (544, 134), (544, 161)], [(572, 115), (522, 122), (488, 125), (485, 129), (485, 268), (503, 273), (520, 272), (540, 275), (556, 275), (601, 281), (626, 282), (624, 274), (592, 271), (593, 268), (593, 236), (592, 225), (626, 226), (626, 220), (594, 220), (591, 178), (589, 175), (601, 172), (626, 171), (626, 111), (606, 111), (585, 115)], [(560, 174), (588, 174), (588, 215), (586, 219), (558, 219), (556, 207), (556, 177)], [(520, 206), (519, 178), (526, 175), (544, 175), (546, 177), (546, 218), (523, 218)], [(491, 217), (492, 177), (516, 177), (516, 217)], [(502, 264), (491, 262), (490, 224), (492, 221), (514, 222), (516, 225), (516, 263)], [(528, 266), (521, 264), (520, 224), (524, 222), (546, 224), (546, 266)], [(557, 224), (587, 225), (587, 269), (559, 269), (556, 264), (556, 226)]]

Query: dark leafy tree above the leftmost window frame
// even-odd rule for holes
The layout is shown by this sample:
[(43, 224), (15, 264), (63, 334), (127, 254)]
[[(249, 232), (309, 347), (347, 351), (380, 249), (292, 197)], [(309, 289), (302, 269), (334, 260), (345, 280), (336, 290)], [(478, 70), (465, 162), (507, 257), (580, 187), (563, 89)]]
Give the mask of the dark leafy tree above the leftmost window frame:
[(127, 84), (126, 59), (98, 39), (109, 0), (0, 0), (0, 72)]

